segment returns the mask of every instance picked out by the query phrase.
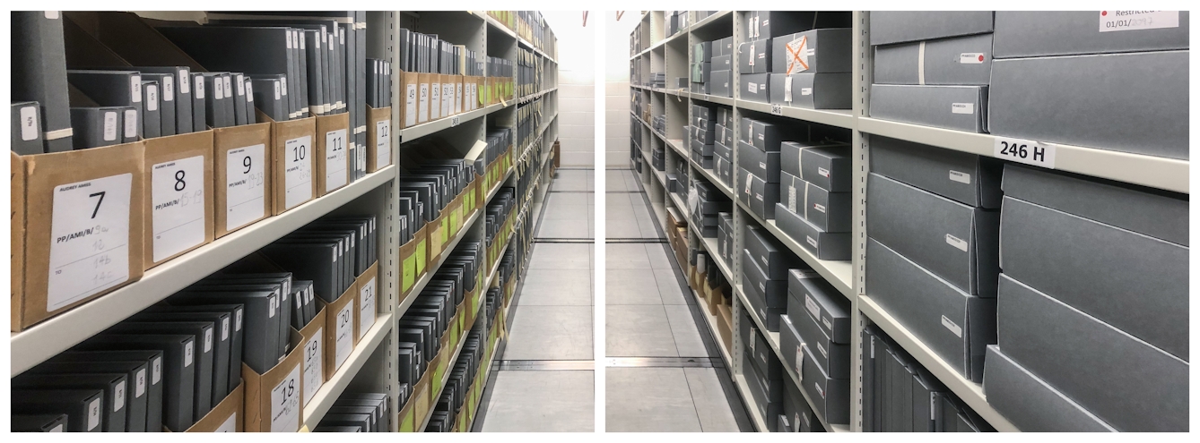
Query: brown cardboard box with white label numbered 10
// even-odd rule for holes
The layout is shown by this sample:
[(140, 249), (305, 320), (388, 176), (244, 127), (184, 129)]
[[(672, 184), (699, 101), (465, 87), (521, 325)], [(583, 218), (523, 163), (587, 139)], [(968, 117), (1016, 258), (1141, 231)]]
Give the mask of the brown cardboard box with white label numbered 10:
[(317, 198), (317, 119), (277, 122), (263, 111), (256, 113), (258, 121), (271, 123), (271, 142), (268, 145), (275, 194), (271, 212), (278, 216)]

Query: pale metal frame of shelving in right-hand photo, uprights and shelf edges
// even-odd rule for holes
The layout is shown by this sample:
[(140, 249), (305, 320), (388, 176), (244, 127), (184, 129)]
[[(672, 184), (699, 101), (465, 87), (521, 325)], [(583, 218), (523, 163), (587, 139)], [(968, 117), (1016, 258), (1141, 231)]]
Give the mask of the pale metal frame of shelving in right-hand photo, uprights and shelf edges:
[[(643, 16), (643, 25), (649, 24), (650, 29), (661, 29), (664, 13), (652, 12)], [(658, 20), (658, 24), (653, 22)], [(631, 67), (643, 67), (643, 75), (647, 73), (644, 66), (647, 59), (654, 55), (654, 50), (658, 48), (666, 48), (665, 72), (668, 74), (679, 66), (676, 63), (685, 63), (690, 60), (690, 47), (704, 42), (713, 41), (716, 38), (722, 38), (727, 36), (734, 36), (734, 47), (737, 43), (742, 42), (745, 36), (745, 13), (737, 11), (720, 11), (709, 17), (700, 20), (691, 20), (691, 25), (684, 30), (682, 34), (688, 34), (689, 38), (686, 41), (688, 48), (684, 49), (686, 57), (676, 54), (672, 56), (672, 44), (680, 42), (679, 36), (672, 36), (671, 38), (658, 38), (654, 40), (653, 32), (650, 32), (652, 44), (637, 54), (630, 56)], [(979, 156), (992, 157), (995, 154), (995, 142), (997, 136), (991, 134), (976, 134), (966, 133), (961, 131), (949, 131), (940, 129), (932, 127), (925, 127), (919, 125), (901, 123), (894, 121), (886, 121), (881, 119), (870, 117), (868, 105), (871, 73), (874, 71), (874, 51), (869, 43), (869, 13), (868, 12), (852, 12), (853, 23), (853, 44), (852, 44), (852, 60), (857, 60), (858, 63), (854, 66), (854, 85), (853, 85), (853, 107), (852, 109), (845, 110), (817, 110), (817, 109), (804, 109), (786, 105), (773, 105), (769, 103), (749, 102), (739, 97), (737, 87), (732, 89), (733, 97), (716, 97), (710, 95), (692, 93), (688, 90), (659, 90), (650, 89), (642, 85), (631, 84), (632, 93), (646, 93), (646, 103), (650, 105), (654, 101), (660, 97), (654, 95), (654, 92), (662, 91), (668, 96), (674, 96), (679, 98), (686, 98), (686, 103), (696, 104), (720, 104), (731, 107), (734, 111), (734, 119), (740, 119), (743, 116), (750, 117), (763, 117), (772, 116), (775, 119), (791, 119), (796, 121), (804, 121), (811, 123), (827, 125), (832, 127), (846, 128), (851, 133), (852, 153), (853, 153), (853, 182), (856, 187), (853, 189), (853, 260), (851, 261), (828, 261), (817, 260), (811, 253), (800, 245), (800, 242), (788, 237), (786, 233), (779, 230), (774, 220), (763, 220), (758, 216), (749, 211), (749, 207), (740, 201), (738, 201), (733, 211), (734, 218), (734, 250), (740, 250), (745, 247), (745, 241), (742, 238), (742, 232), (744, 232), (746, 225), (757, 224), (766, 229), (772, 236), (779, 239), (782, 244), (787, 247), (792, 253), (799, 256), (805, 263), (816, 269), (826, 280), (828, 280), (834, 287), (838, 289), (851, 302), (851, 323), (853, 324), (853, 333), (851, 339), (851, 347), (856, 350), (853, 352), (853, 360), (851, 362), (851, 424), (850, 425), (832, 425), (827, 424), (827, 429), (832, 431), (860, 431), (863, 429), (862, 424), (862, 329), (868, 324), (876, 324), (884, 332), (887, 332), (896, 342), (900, 344), (908, 353), (911, 353), (918, 362), (920, 362), (926, 369), (934, 372), (934, 375), (942, 381), (952, 392), (954, 392), (959, 398), (961, 398), (967, 405), (970, 405), (977, 413), (979, 413), (989, 424), (1001, 431), (1016, 431), (1007, 419), (998, 414), (986, 400), (983, 394), (982, 386), (979, 383), (973, 383), (968, 380), (962, 378), (958, 372), (952, 370), (943, 360), (941, 360), (925, 344), (920, 342), (916, 336), (907, 332), (900, 323), (898, 323), (888, 312), (883, 311), (877, 304), (875, 304), (868, 296), (868, 289), (865, 285), (865, 256), (866, 256), (866, 232), (865, 232), (865, 218), (866, 218), (866, 175), (869, 172), (870, 165), (870, 139), (871, 136), (888, 136), (904, 139), (908, 141), (920, 142), (925, 145), (938, 146), (943, 148), (970, 152)], [(644, 41), (644, 35), (643, 35)], [(737, 85), (740, 81), (740, 74), (733, 69), (733, 78), (731, 79), (732, 85)], [(684, 71), (686, 72), (686, 71)], [(672, 79), (668, 75), (668, 81)], [(649, 91), (649, 92), (640, 92)], [(668, 97), (670, 98), (670, 97)], [(677, 107), (658, 107), (655, 104), (650, 108), (653, 115), (666, 114), (668, 126), (677, 121), (683, 121), (686, 125), (690, 121), (690, 107), (677, 108)], [(649, 125), (635, 114), (637, 121), (640, 121), (647, 129)], [(739, 128), (733, 128), (737, 133)], [(668, 128), (668, 131), (671, 131)], [(738, 177), (734, 175), (734, 183), (726, 187), (720, 180), (715, 177), (713, 170), (703, 169), (690, 159), (690, 152), (683, 147), (682, 140), (678, 142), (672, 142), (673, 140), (666, 139), (667, 135), (654, 131), (642, 131), (643, 141), (640, 144), (643, 150), (649, 148), (652, 140), (658, 141), (656, 138), (671, 145), (672, 150), (667, 150), (668, 165), (682, 164), (686, 165), (682, 170), (686, 171), (689, 177), (703, 177), (704, 180), (716, 184), (718, 189), (725, 192), (731, 200), (737, 201), (733, 195), (733, 189), (737, 189), (744, 183), (738, 183)], [(646, 133), (653, 133), (649, 135)], [(738, 134), (736, 134), (734, 138)], [(1170, 159), (1163, 157), (1151, 157), (1141, 154), (1132, 154), (1115, 151), (1099, 150), (1086, 146), (1070, 146), (1062, 144), (1042, 144), (1046, 146), (1052, 146), (1055, 148), (1055, 162), (1054, 168), (1063, 171), (1070, 171), (1075, 174), (1081, 174), (1092, 177), (1108, 178), (1124, 183), (1146, 186), (1152, 188), (1165, 189), (1177, 193), (1189, 193), (1189, 162)], [(737, 164), (738, 150), (737, 146), (731, 146), (733, 148), (734, 160)], [(673, 151), (673, 152), (672, 152)], [(680, 172), (682, 174), (682, 172)], [(649, 195), (652, 201), (656, 199), (662, 199), (665, 202), (671, 202), (673, 206), (678, 206), (685, 210), (684, 202), (672, 193), (666, 193), (665, 187), (655, 189), (655, 186), (650, 184), (653, 181), (646, 181), (647, 189), (646, 193)], [(670, 198), (665, 198), (670, 194)], [(690, 230), (691, 236), (697, 236), (695, 230)], [(707, 249), (712, 249), (710, 242), (703, 239), (701, 242)], [(740, 269), (740, 254), (734, 254), (732, 263), (721, 263), (722, 272), (730, 269)], [(726, 268), (726, 266), (728, 268)], [(742, 318), (740, 311), (743, 305), (746, 303), (744, 295), (740, 292), (740, 284), (743, 281), (740, 272), (733, 271), (731, 275), (731, 283), (737, 287), (738, 297), (734, 297), (733, 303), (733, 321), (734, 330), (737, 330), (739, 318)], [(758, 318), (752, 315), (751, 317), (758, 322)], [(761, 322), (758, 324), (762, 326)], [(713, 327), (713, 324), (710, 324)], [(766, 330), (766, 329), (763, 329)], [(736, 334), (734, 334), (736, 335)], [(779, 334), (769, 333), (768, 341), (770, 342), (773, 350), (780, 357), (779, 350)], [(734, 338), (732, 354), (737, 356), (742, 346), (739, 340)], [(744, 401), (748, 405), (754, 403), (754, 399), (749, 396), (749, 392), (745, 390), (745, 380), (743, 377), (743, 369), (740, 368), (740, 359), (734, 358), (731, 362), (731, 366), (734, 369), (734, 383), (738, 386), (739, 392), (743, 395)], [(793, 381), (796, 374), (788, 369)], [(752, 420), (760, 430), (766, 429), (763, 418), (756, 417), (757, 412), (754, 407), (750, 407)], [(822, 423), (824, 423), (822, 418)]]

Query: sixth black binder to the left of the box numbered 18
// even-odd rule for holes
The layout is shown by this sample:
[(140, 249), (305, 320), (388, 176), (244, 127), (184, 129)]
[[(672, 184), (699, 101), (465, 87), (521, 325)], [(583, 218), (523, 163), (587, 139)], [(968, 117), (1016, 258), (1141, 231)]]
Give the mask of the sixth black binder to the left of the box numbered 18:
[[(145, 360), (140, 362), (58, 362), (50, 360), (35, 366), (30, 372), (42, 375), (70, 375), (71, 374), (122, 374), (125, 375), (125, 432), (146, 431), (146, 401), (150, 398), (150, 366)], [(24, 375), (24, 374), (23, 374)], [(157, 396), (156, 407), (162, 408), (162, 395)], [(154, 431), (162, 429), (160, 424)]]

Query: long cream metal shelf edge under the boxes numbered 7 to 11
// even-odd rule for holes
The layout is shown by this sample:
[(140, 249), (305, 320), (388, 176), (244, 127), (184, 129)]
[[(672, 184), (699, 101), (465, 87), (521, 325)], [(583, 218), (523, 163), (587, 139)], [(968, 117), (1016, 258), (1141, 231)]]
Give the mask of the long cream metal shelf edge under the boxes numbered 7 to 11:
[[(380, 184), (394, 180), (397, 166), (390, 165), (324, 196), (308, 201), (288, 212), (268, 217), (242, 227), (212, 243), (158, 265), (142, 277), (116, 291), (67, 310), (58, 316), (14, 333), (10, 338), (12, 347), (12, 375), (44, 362), (66, 351), (113, 324), (140, 312), (175, 292), (221, 271), (226, 266), (262, 249), (263, 247), (304, 227), (334, 210), (358, 199)], [(380, 226), (383, 222), (380, 220)]]

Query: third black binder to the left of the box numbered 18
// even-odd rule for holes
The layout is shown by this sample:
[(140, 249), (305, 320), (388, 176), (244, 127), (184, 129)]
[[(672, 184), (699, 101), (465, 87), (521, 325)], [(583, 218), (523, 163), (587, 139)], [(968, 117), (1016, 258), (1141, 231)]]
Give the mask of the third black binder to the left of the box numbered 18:
[(186, 348), (184, 354), (184, 364), (188, 364), (188, 360), (191, 360), (192, 366), (196, 368), (193, 371), (193, 375), (196, 376), (196, 394), (192, 399), (194, 405), (192, 408), (192, 418), (193, 420), (199, 420), (212, 409), (212, 341), (215, 339), (212, 322), (121, 322), (109, 328), (109, 332), (116, 334), (150, 333), (187, 334), (194, 336), (196, 342), (192, 348), (192, 354), (188, 356), (186, 353)]

